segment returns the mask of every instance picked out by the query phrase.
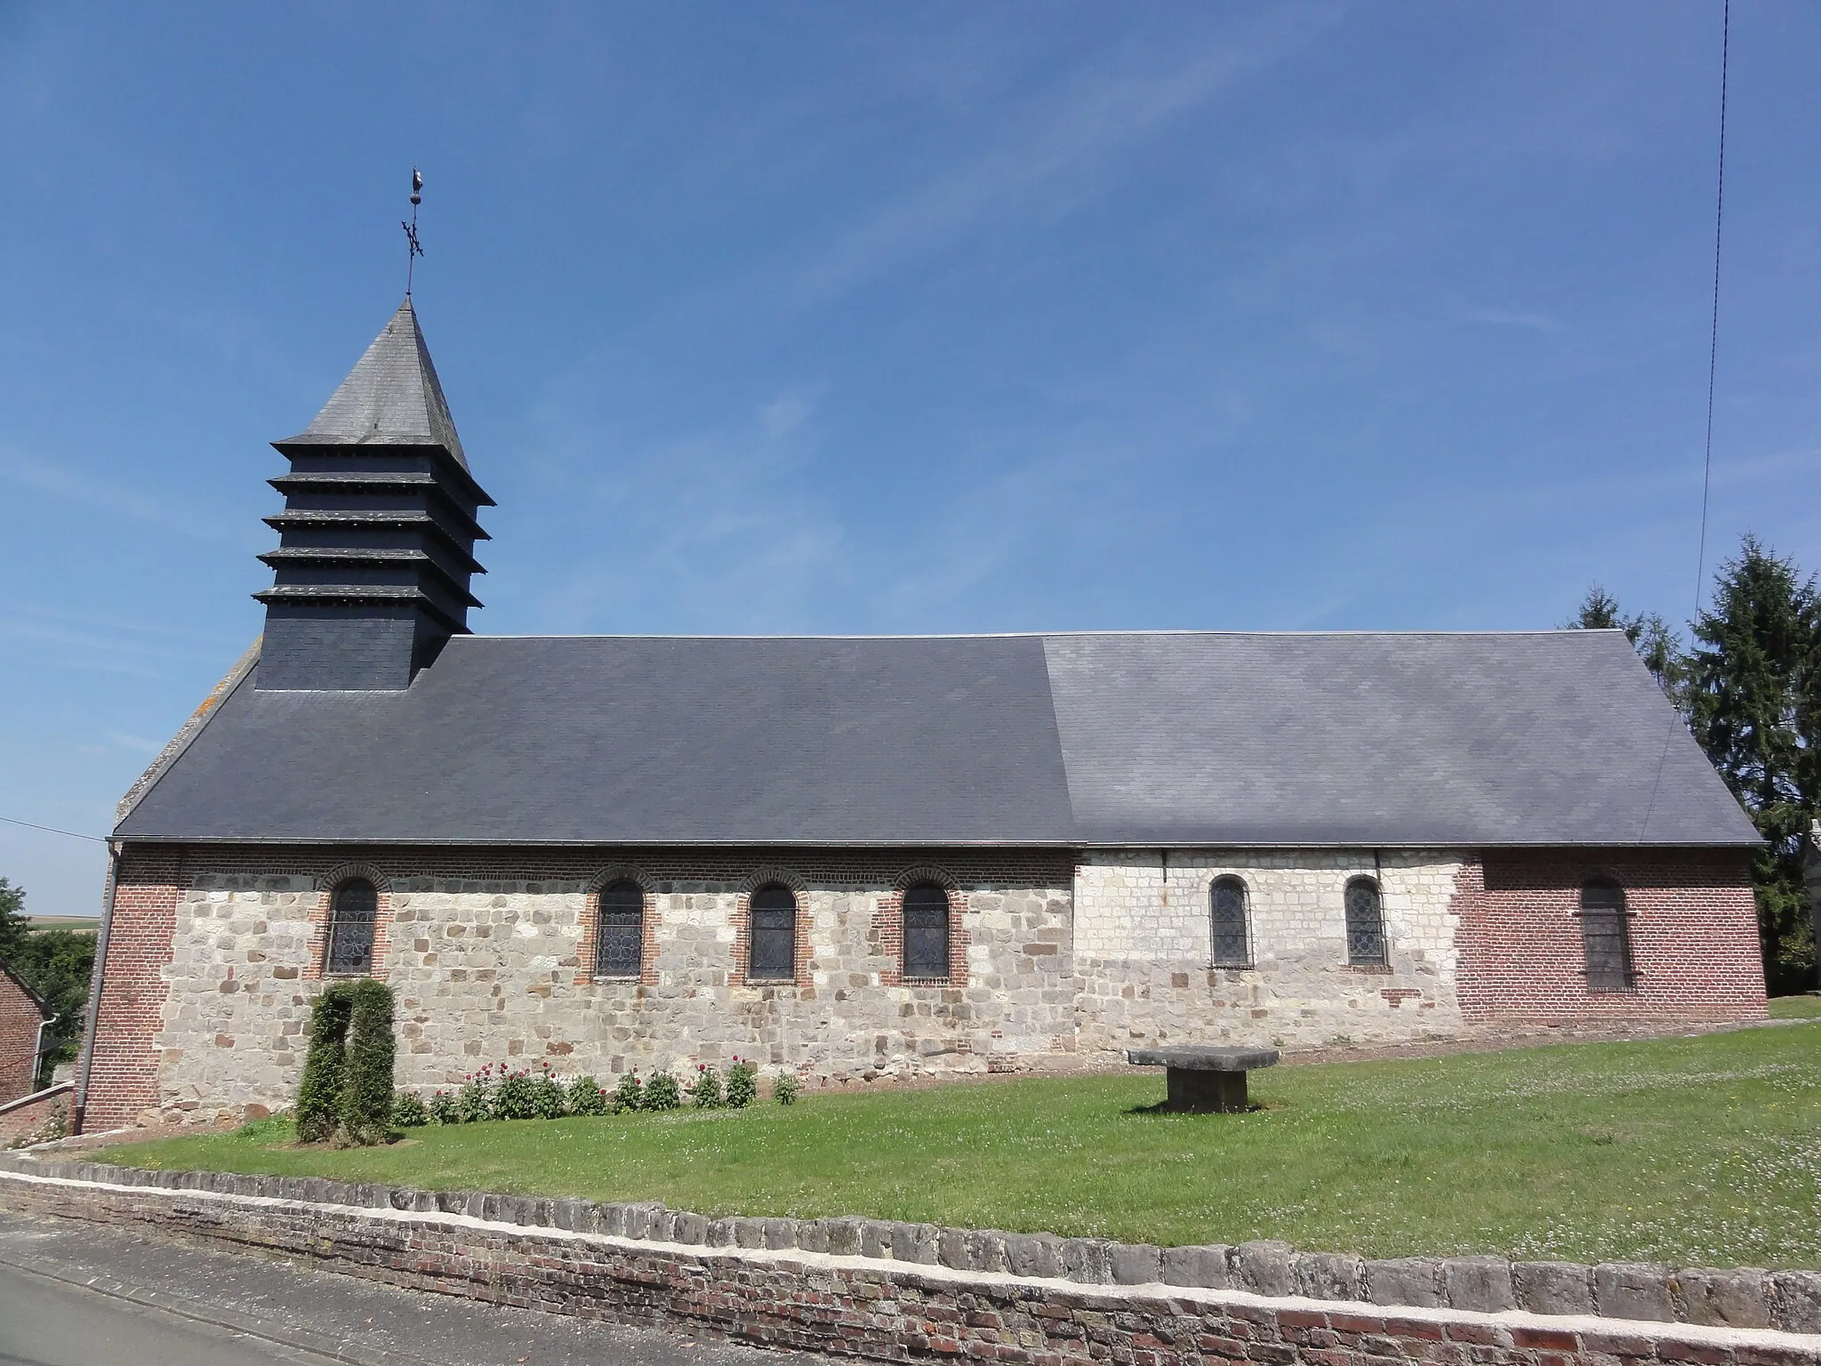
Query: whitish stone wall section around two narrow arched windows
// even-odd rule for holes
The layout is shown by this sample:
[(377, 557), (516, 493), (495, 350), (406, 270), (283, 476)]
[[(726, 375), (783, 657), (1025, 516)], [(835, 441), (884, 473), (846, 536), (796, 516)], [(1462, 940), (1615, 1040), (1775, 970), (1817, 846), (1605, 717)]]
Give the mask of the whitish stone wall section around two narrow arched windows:
[[(1074, 967), (1083, 1058), (1136, 1044), (1404, 1040), (1460, 1029), (1455, 876), (1464, 854), (1129, 851), (1082, 858)], [(1213, 967), (1211, 887), (1246, 885), (1251, 967)], [(1349, 967), (1344, 892), (1382, 892), (1388, 963)]]

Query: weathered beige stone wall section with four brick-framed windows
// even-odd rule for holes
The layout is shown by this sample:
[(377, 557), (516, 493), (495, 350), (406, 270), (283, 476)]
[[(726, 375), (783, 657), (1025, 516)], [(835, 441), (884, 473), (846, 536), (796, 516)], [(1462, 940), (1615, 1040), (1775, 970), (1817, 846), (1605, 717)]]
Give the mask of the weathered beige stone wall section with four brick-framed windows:
[[(322, 918), (350, 869), (381, 885), (375, 976), (397, 991), (399, 1084), (450, 1087), (483, 1064), (548, 1062), (603, 1082), (734, 1056), (805, 1080), (1074, 1062), (1067, 854), (646, 851), (195, 851), (155, 1047), (162, 1116), (291, 1104), (322, 962)], [(648, 885), (643, 980), (595, 980), (586, 927), (603, 874)], [(965, 984), (900, 984), (907, 876), (952, 883)], [(736, 940), (754, 885), (798, 889), (794, 984), (741, 984)], [(153, 1118), (148, 1115), (148, 1118)]]

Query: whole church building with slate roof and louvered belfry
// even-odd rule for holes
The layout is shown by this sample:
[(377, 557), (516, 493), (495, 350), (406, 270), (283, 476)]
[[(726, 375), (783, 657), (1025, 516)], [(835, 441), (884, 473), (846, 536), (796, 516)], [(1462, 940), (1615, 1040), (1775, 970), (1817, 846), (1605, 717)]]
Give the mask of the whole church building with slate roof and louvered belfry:
[(288, 1107), (342, 976), (422, 1091), (1765, 1013), (1757, 832), (1619, 632), (477, 636), (410, 299), (273, 444), (264, 634), (120, 803), (87, 1131)]

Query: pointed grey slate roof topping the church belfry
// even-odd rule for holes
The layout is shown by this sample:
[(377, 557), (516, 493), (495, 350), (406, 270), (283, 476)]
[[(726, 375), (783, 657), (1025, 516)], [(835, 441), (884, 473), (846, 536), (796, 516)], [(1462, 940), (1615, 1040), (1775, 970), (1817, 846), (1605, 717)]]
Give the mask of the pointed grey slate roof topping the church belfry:
[(437, 368), (406, 295), (399, 311), (322, 404), (322, 412), (286, 446), (443, 446), (463, 470), (463, 454)]

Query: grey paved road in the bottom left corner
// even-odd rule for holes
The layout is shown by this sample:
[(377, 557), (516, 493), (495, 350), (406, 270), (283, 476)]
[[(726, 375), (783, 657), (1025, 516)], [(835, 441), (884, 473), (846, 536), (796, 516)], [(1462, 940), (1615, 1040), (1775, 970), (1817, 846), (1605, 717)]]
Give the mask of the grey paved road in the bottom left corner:
[(0, 1366), (819, 1366), (0, 1211)]

